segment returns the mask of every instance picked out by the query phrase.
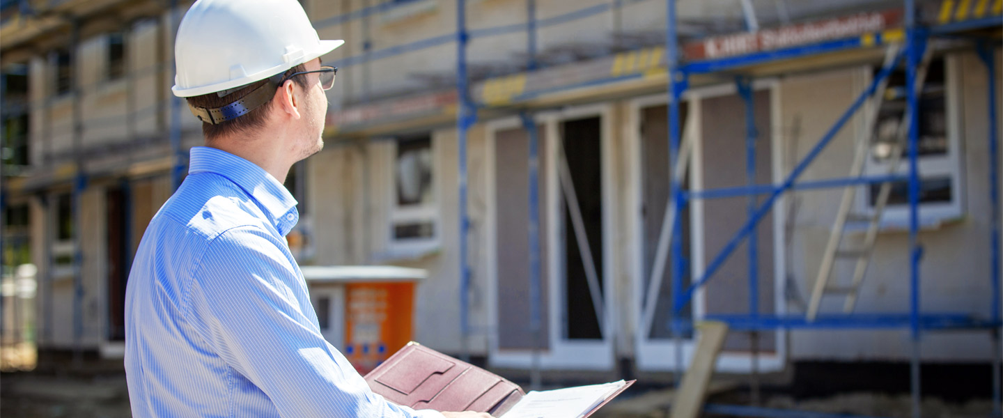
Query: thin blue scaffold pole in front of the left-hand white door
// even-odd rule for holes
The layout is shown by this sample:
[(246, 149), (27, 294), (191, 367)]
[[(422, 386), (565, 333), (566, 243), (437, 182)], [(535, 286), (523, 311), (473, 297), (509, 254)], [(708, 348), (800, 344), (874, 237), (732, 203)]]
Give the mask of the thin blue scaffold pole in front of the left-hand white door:
[[(533, 0), (530, 0), (533, 1)], [(523, 128), (530, 138), (530, 331), (533, 332), (533, 365), (530, 370), (530, 387), (540, 390), (540, 351), (543, 349), (543, 324), (541, 320), (540, 284), (540, 141), (537, 122), (533, 115), (521, 112)]]

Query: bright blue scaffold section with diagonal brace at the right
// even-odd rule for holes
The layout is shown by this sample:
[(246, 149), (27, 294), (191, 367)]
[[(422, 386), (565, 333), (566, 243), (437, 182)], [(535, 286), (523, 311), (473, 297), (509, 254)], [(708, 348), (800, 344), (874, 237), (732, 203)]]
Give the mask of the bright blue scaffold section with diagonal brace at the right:
[[(669, 82), (668, 100), (669, 112), (669, 135), (670, 135), (670, 161), (677, 161), (680, 143), (679, 111), (680, 101), (687, 88), (687, 81), (693, 74), (703, 74), (719, 71), (735, 71), (742, 67), (763, 62), (791, 59), (838, 51), (848, 48), (858, 48), (863, 46), (860, 39), (846, 39), (822, 42), (817, 44), (798, 46), (768, 52), (758, 52), (722, 59), (706, 59), (694, 62), (683, 63), (679, 60), (679, 44), (676, 32), (676, 0), (667, 0), (667, 33), (666, 50), (668, 55)], [(923, 313), (920, 307), (920, 263), (923, 257), (923, 250), (919, 243), (919, 195), (920, 195), (920, 173), (919, 173), (919, 103), (917, 92), (912, 86), (915, 85), (917, 65), (925, 48), (927, 41), (931, 37), (949, 35), (961, 31), (968, 31), (979, 28), (992, 28), (1001, 25), (999, 17), (988, 17), (974, 19), (967, 22), (946, 24), (935, 27), (921, 27), (917, 24), (917, 10), (915, 0), (905, 1), (905, 47), (892, 63), (882, 68), (881, 72), (874, 78), (870, 86), (854, 101), (835, 123), (818, 140), (814, 147), (793, 167), (779, 185), (755, 184), (753, 182), (755, 174), (755, 148), (752, 146), (756, 132), (752, 114), (752, 97), (748, 87), (748, 80), (739, 78), (739, 95), (746, 105), (746, 154), (747, 165), (746, 174), (748, 185), (745, 187), (729, 187), (722, 189), (702, 190), (700, 192), (686, 192), (681, 187), (683, 176), (678, 172), (672, 173), (671, 179), (671, 199), (670, 204), (675, 206), (677, 214), (681, 213), (693, 199), (714, 198), (723, 196), (749, 196), (748, 218), (744, 226), (737, 232), (734, 238), (715, 256), (706, 270), (699, 276), (694, 277), (692, 285), (684, 289), (683, 278), (688, 273), (685, 268), (681, 246), (680, 219), (675, 219), (676, 225), (672, 229), (671, 238), (671, 260), (673, 267), (672, 274), (672, 313), (673, 317), (679, 317), (682, 309), (691, 302), (693, 293), (713, 278), (714, 273), (722, 266), (724, 261), (735, 251), (735, 249), (747, 240), (749, 252), (748, 266), (748, 288), (749, 288), (749, 312), (745, 315), (708, 315), (707, 319), (718, 320), (727, 323), (733, 330), (761, 331), (777, 329), (909, 329), (912, 337), (911, 356), (911, 391), (913, 403), (913, 416), (920, 417), (920, 340), (926, 331), (944, 329), (984, 329), (990, 331), (993, 341), (993, 416), (1001, 416), (1000, 409), (1000, 201), (999, 201), (999, 151), (997, 139), (996, 111), (996, 68), (992, 57), (992, 51), (985, 40), (979, 41), (979, 55), (986, 66), (988, 73), (988, 109), (990, 128), (988, 134), (989, 142), (989, 183), (990, 183), (990, 204), (992, 212), (992, 228), (989, 231), (989, 244), (992, 251), (990, 257), (990, 284), (992, 289), (991, 314), (988, 319), (972, 318), (967, 315), (953, 313)], [(877, 39), (877, 42), (884, 42)], [(851, 315), (829, 315), (820, 316), (813, 321), (806, 320), (802, 315), (782, 316), (782, 315), (762, 315), (758, 312), (756, 297), (757, 269), (756, 260), (756, 240), (755, 228), (762, 218), (769, 213), (776, 200), (786, 191), (804, 187), (845, 187), (851, 184), (876, 183), (889, 181), (894, 178), (882, 177), (849, 177), (832, 178), (823, 181), (797, 182), (797, 178), (805, 168), (814, 160), (825, 146), (835, 136), (837, 132), (847, 123), (853, 114), (862, 107), (868, 97), (870, 97), (881, 81), (889, 76), (891, 71), (902, 60), (906, 69), (907, 87), (907, 118), (910, 120), (908, 127), (908, 160), (909, 172), (908, 192), (909, 192), (909, 277), (910, 277), (910, 310), (908, 313), (899, 314), (851, 314)], [(755, 196), (766, 194), (766, 199), (761, 204), (757, 204)], [(674, 335), (691, 327), (690, 320), (676, 318), (672, 320), (670, 329)], [(753, 338), (753, 340), (755, 340)], [(678, 338), (676, 339), (678, 341)], [(677, 352), (679, 348), (677, 346)], [(677, 370), (682, 370), (681, 359), (677, 357)], [(785, 415), (784, 411), (776, 411), (765, 408), (732, 409), (730, 413), (747, 414), (742, 416), (763, 416), (780, 417)]]

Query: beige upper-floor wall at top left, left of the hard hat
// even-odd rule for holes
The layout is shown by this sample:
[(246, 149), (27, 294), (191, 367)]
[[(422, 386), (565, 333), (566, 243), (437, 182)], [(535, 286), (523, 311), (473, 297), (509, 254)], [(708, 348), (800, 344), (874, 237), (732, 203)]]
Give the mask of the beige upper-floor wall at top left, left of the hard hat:
[[(128, 117), (133, 117), (132, 134), (139, 136), (166, 133), (164, 121), (171, 118), (170, 88), (174, 84), (174, 69), (165, 64), (164, 56), (174, 53), (170, 15), (158, 19), (134, 22), (125, 30), (126, 71), (116, 79), (107, 76), (107, 35), (98, 34), (81, 39), (77, 45), (77, 62), (73, 71), (81, 90), (83, 146), (126, 143), (130, 137)], [(43, 161), (44, 152), (65, 154), (73, 149), (73, 90), (56, 95), (55, 66), (50, 51), (40, 51), (30, 59), (29, 90), (31, 114), (32, 161)], [(181, 112), (182, 128), (194, 131), (201, 142), (199, 120), (191, 116), (184, 101)], [(192, 135), (189, 135), (192, 136)]]

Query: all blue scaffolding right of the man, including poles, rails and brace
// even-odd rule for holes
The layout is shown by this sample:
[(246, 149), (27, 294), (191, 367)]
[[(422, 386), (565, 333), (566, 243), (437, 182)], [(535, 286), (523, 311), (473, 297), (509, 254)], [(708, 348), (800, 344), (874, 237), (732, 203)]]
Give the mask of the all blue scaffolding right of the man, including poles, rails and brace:
[[(460, 302), (460, 335), (463, 341), (463, 347), (466, 347), (466, 337), (469, 335), (470, 327), (468, 324), (468, 312), (469, 312), (469, 298), (468, 293), (470, 289), (470, 269), (468, 266), (466, 248), (467, 248), (467, 231), (469, 227), (469, 220), (467, 217), (466, 206), (466, 138), (467, 130), (476, 122), (477, 110), (481, 108), (489, 107), (487, 104), (478, 103), (474, 98), (471, 97), (469, 92), (469, 83), (467, 80), (467, 63), (466, 63), (466, 48), (468, 42), (471, 38), (483, 37), (483, 36), (494, 36), (506, 33), (527, 31), (528, 34), (528, 51), (531, 51), (530, 59), (528, 63), (528, 68), (533, 71), (536, 67), (533, 59), (536, 54), (532, 53), (536, 51), (536, 31), (539, 27), (564, 23), (567, 21), (572, 21), (576, 19), (581, 19), (584, 17), (589, 17), (595, 14), (603, 13), (609, 11), (613, 8), (623, 7), (626, 4), (640, 2), (646, 0), (615, 0), (611, 4), (600, 4), (596, 6), (590, 6), (583, 8), (581, 10), (573, 11), (561, 16), (555, 16), (548, 19), (537, 20), (535, 11), (535, 2), (533, 0), (527, 1), (527, 8), (529, 16), (528, 22), (526, 24), (516, 24), (516, 25), (504, 25), (486, 29), (477, 30), (467, 30), (465, 25), (465, 1), (457, 0), (457, 30), (452, 34), (445, 34), (440, 36), (435, 36), (428, 39), (414, 41), (408, 44), (389, 47), (377, 51), (368, 51), (360, 56), (348, 57), (340, 60), (338, 63), (343, 65), (356, 64), (361, 62), (367, 62), (374, 59), (380, 59), (387, 56), (397, 55), (409, 51), (414, 51), (418, 49), (424, 49), (427, 47), (445, 44), (449, 42), (455, 42), (457, 46), (456, 53), (456, 91), (458, 97), (458, 106), (456, 114), (456, 128), (457, 128), (457, 138), (458, 138), (458, 167), (459, 167), (459, 251), (460, 251), (460, 261), (458, 270), (460, 273), (460, 283), (459, 283), (459, 302)], [(818, 140), (814, 147), (793, 167), (793, 169), (784, 177), (783, 181), (779, 184), (757, 184), (754, 181), (754, 175), (756, 171), (755, 167), (755, 139), (757, 132), (754, 125), (754, 106), (752, 105), (752, 89), (751, 82), (752, 79), (746, 75), (738, 75), (735, 77), (736, 87), (739, 96), (743, 99), (745, 103), (745, 119), (746, 119), (746, 137), (745, 137), (745, 151), (746, 151), (746, 175), (747, 183), (744, 186), (734, 186), (734, 187), (724, 187), (715, 189), (705, 189), (699, 191), (687, 191), (682, 187), (682, 179), (685, 176), (685, 172), (672, 171), (671, 181), (670, 181), (670, 202), (671, 206), (674, 206), (675, 213), (682, 213), (687, 205), (695, 199), (710, 199), (710, 198), (720, 198), (720, 197), (733, 197), (733, 196), (747, 196), (747, 219), (743, 227), (736, 233), (735, 237), (721, 250), (721, 252), (716, 255), (711, 263), (707, 266), (706, 270), (702, 272), (698, 277), (694, 277), (692, 280), (692, 285), (685, 287), (683, 280), (689, 275), (686, 268), (686, 260), (683, 257), (682, 252), (682, 228), (681, 228), (681, 217), (675, 217), (673, 220), (674, 225), (671, 228), (672, 236), (670, 239), (670, 258), (672, 265), (672, 301), (671, 301), (671, 312), (672, 318), (669, 324), (666, 326), (670, 329), (673, 335), (674, 341), (677, 344), (680, 342), (680, 336), (684, 332), (688, 332), (692, 329), (693, 323), (692, 319), (682, 318), (680, 315), (685, 306), (692, 301), (694, 292), (697, 289), (706, 286), (707, 283), (713, 279), (714, 273), (724, 264), (728, 257), (734, 253), (734, 251), (747, 240), (748, 246), (748, 291), (749, 291), (749, 311), (747, 314), (743, 315), (708, 315), (705, 319), (712, 319), (717, 321), (725, 322), (729, 325), (732, 330), (736, 331), (748, 331), (748, 332), (759, 332), (767, 330), (798, 330), (798, 329), (812, 329), (812, 330), (825, 330), (825, 329), (860, 329), (860, 330), (875, 330), (875, 329), (908, 329), (911, 333), (913, 351), (911, 358), (911, 390), (912, 390), (912, 401), (913, 401), (913, 416), (920, 416), (920, 340), (922, 334), (927, 331), (934, 330), (987, 330), (992, 335), (993, 341), (993, 414), (994, 416), (1001, 416), (1000, 407), (1000, 389), (1001, 389), (1001, 376), (1000, 376), (1000, 364), (1001, 364), (1001, 350), (1000, 346), (1000, 327), (1003, 325), (1000, 319), (1000, 201), (999, 201), (999, 148), (998, 148), (998, 125), (997, 125), (997, 104), (996, 95), (997, 91), (995, 74), (996, 66), (992, 57), (992, 50), (990, 43), (985, 40), (979, 40), (978, 51), (983, 63), (988, 71), (989, 78), (989, 94), (988, 94), (988, 110), (989, 110), (989, 120), (990, 129), (988, 134), (988, 147), (989, 147), (989, 177), (990, 177), (990, 203), (992, 212), (992, 228), (989, 231), (989, 244), (991, 247), (992, 255), (990, 257), (990, 285), (992, 289), (991, 295), (991, 314), (988, 319), (986, 318), (974, 318), (966, 314), (958, 313), (925, 313), (921, 310), (920, 306), (920, 263), (922, 261), (923, 250), (919, 242), (919, 195), (920, 195), (920, 173), (919, 173), (919, 129), (918, 129), (918, 97), (915, 89), (907, 88), (907, 114), (910, 120), (910, 125), (908, 127), (908, 164), (909, 169), (906, 175), (861, 175), (855, 177), (845, 177), (845, 178), (826, 178), (821, 180), (810, 180), (810, 181), (798, 181), (798, 177), (802, 174), (808, 165), (816, 159), (816, 157), (821, 153), (821, 151), (826, 147), (826, 145), (835, 137), (837, 133), (843, 128), (845, 124), (854, 116), (854, 114), (860, 110), (867, 99), (871, 97), (881, 82), (889, 77), (892, 71), (899, 67), (905, 67), (906, 70), (906, 85), (915, 85), (915, 80), (917, 77), (917, 66), (920, 59), (927, 48), (928, 40), (933, 37), (938, 36), (954, 36), (961, 34), (963, 32), (970, 32), (973, 30), (985, 29), (985, 28), (996, 28), (1001, 26), (999, 17), (991, 15), (984, 18), (969, 19), (962, 22), (955, 23), (945, 23), (930, 27), (924, 27), (917, 22), (917, 9), (915, 0), (904, 0), (905, 3), (905, 33), (902, 36), (904, 41), (904, 48), (902, 52), (888, 65), (885, 65), (881, 71), (874, 77), (874, 80), (870, 83), (865, 91), (861, 92), (853, 104), (837, 119), (832, 126), (825, 132), (825, 134)], [(728, 56), (724, 58), (710, 58), (710, 59), (700, 59), (689, 62), (683, 62), (681, 59), (682, 54), (680, 53), (679, 39), (677, 36), (677, 18), (676, 18), (676, 0), (666, 0), (666, 22), (667, 31), (665, 38), (665, 48), (666, 48), (666, 58), (667, 58), (667, 74), (668, 74), (668, 120), (669, 120), (669, 160), (678, 161), (678, 156), (680, 153), (680, 101), (683, 94), (687, 91), (689, 87), (689, 78), (691, 75), (695, 74), (710, 74), (710, 73), (729, 73), (741, 74), (742, 70), (753, 65), (764, 64), (775, 61), (790, 60), (797, 58), (809, 57), (812, 55), (826, 54), (838, 51), (852, 50), (858, 48), (865, 48), (875, 45), (884, 45), (892, 42), (900, 41), (898, 34), (892, 34), (890, 32), (878, 32), (872, 34), (871, 38), (865, 39), (862, 37), (850, 37), (843, 39), (834, 39), (821, 41), (806, 45), (799, 45), (787, 48), (780, 48), (769, 51), (754, 52), (747, 54), (739, 54), (735, 56)], [(376, 11), (382, 11), (387, 7), (392, 7), (387, 3), (382, 3), (370, 8), (354, 12), (353, 14), (336, 16), (334, 18), (325, 20), (324, 22), (341, 22), (344, 19), (351, 19), (356, 17), (365, 16)], [(630, 76), (620, 76), (612, 77), (609, 79), (592, 81), (589, 85), (598, 85), (607, 82), (620, 81)], [(585, 85), (573, 85), (567, 88), (578, 88)], [(553, 91), (527, 91), (522, 92), (515, 97), (513, 101), (529, 100), (534, 97), (539, 96), (543, 93), (548, 93)], [(531, 110), (529, 106), (515, 106), (514, 109), (521, 110), (520, 116), (523, 121), (524, 128), (527, 130), (530, 136), (530, 179), (529, 179), (529, 214), (530, 214), (530, 246), (528, 247), (530, 252), (531, 261), (531, 271), (529, 272), (530, 277), (530, 300), (532, 302), (531, 310), (531, 328), (534, 333), (537, 333), (539, 342), (539, 333), (541, 329), (541, 309), (540, 309), (540, 295), (542, 293), (542, 283), (540, 280), (540, 249), (539, 249), (539, 190), (538, 186), (538, 169), (539, 169), (539, 141), (537, 138), (537, 125), (534, 122), (532, 115), (529, 113)], [(803, 315), (798, 316), (784, 316), (784, 315), (763, 315), (758, 309), (758, 269), (756, 260), (758, 258), (758, 252), (756, 248), (756, 226), (759, 222), (770, 212), (772, 206), (777, 202), (777, 200), (783, 195), (783, 193), (793, 190), (804, 190), (804, 189), (817, 189), (817, 188), (833, 188), (833, 187), (846, 187), (849, 185), (866, 185), (866, 184), (879, 184), (890, 181), (907, 181), (908, 182), (908, 202), (909, 202), (909, 254), (910, 254), (910, 310), (905, 313), (882, 313), (882, 314), (850, 314), (850, 315), (820, 315), (813, 320), (806, 319)], [(758, 202), (757, 197), (760, 194), (765, 194), (765, 200), (761, 203)], [(753, 338), (753, 341), (756, 339)], [(755, 351), (753, 349), (753, 351)], [(675, 350), (676, 356), (676, 370), (683, 370), (682, 365), (682, 350), (677, 348)], [(465, 355), (465, 350), (464, 350)], [(535, 363), (536, 364), (536, 363)], [(755, 369), (755, 363), (753, 362), (753, 370)], [(539, 374), (534, 371), (534, 381), (539, 382)], [(762, 417), (785, 417), (785, 416), (795, 416), (791, 415), (791, 411), (781, 411), (769, 408), (758, 408), (758, 407), (741, 407), (741, 406), (722, 406), (722, 405), (711, 405), (707, 407), (708, 412), (721, 412), (728, 413), (739, 416), (762, 416)], [(796, 412), (794, 414), (801, 414)], [(796, 415), (803, 416), (803, 415)]]

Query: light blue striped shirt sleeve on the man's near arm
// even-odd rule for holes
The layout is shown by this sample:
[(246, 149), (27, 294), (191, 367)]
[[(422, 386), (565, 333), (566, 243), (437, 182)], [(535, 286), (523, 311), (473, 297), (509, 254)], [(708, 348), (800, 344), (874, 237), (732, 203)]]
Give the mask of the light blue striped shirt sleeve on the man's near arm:
[(186, 320), (283, 417), (427, 417), (374, 394), (304, 312), (305, 284), (282, 243), (256, 227), (232, 229), (195, 267)]

